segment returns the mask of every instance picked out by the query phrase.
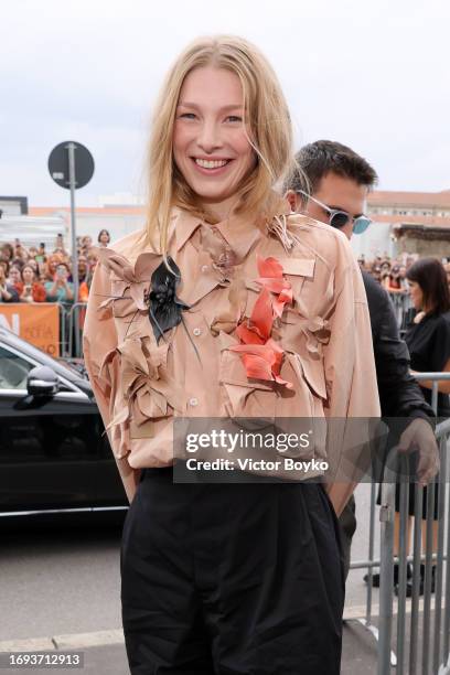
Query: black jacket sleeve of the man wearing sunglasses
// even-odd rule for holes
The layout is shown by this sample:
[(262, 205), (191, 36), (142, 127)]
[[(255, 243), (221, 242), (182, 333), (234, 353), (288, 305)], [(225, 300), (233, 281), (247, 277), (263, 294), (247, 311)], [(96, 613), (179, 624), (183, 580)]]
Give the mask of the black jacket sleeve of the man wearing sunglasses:
[(390, 298), (368, 272), (362, 274), (371, 314), (382, 415), (385, 418), (421, 417), (433, 425), (432, 408), (409, 374), (409, 352), (400, 339)]

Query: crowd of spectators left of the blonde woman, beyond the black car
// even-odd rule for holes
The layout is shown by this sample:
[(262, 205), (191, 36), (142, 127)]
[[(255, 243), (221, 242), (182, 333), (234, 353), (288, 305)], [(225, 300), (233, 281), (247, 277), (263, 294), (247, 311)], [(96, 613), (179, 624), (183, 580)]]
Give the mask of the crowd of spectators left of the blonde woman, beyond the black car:
[(101, 229), (94, 245), (92, 237), (78, 237), (78, 293), (74, 297), (72, 256), (63, 235), (56, 236), (49, 251), (44, 243), (26, 248), (19, 239), (0, 245), (0, 302), (87, 302), (97, 255), (94, 246), (108, 246), (110, 235)]

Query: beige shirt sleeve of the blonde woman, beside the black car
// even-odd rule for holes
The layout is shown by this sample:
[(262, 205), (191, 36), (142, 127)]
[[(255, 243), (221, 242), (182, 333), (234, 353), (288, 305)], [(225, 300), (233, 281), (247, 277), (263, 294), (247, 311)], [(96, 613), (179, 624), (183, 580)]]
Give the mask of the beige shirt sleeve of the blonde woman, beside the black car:
[[(114, 417), (114, 396), (119, 383), (119, 361), (108, 357), (117, 350), (117, 332), (110, 307), (100, 308), (113, 296), (108, 270), (97, 265), (90, 286), (89, 300), (83, 333), (83, 351), (90, 385), (105, 425), (109, 427)], [(108, 429), (108, 438), (115, 460), (131, 502), (139, 483), (140, 469), (132, 469), (127, 460), (126, 435), (119, 426)]]

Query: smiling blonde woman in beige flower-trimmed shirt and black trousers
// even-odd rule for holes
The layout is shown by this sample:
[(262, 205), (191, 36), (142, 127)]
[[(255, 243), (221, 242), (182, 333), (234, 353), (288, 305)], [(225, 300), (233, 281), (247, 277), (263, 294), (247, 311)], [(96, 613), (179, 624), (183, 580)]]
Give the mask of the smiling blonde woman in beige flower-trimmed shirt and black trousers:
[(147, 225), (98, 249), (84, 351), (130, 501), (121, 602), (136, 675), (340, 672), (335, 512), (353, 485), (328, 494), (313, 468), (173, 482), (176, 417), (378, 415), (349, 244), (290, 216), (275, 190), (291, 141), (259, 51), (197, 40), (156, 107)]

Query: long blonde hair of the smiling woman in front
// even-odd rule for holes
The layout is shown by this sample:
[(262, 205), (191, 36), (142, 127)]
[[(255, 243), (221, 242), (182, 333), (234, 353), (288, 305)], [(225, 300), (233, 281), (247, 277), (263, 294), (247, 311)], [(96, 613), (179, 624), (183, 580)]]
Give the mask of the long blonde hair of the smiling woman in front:
[(288, 106), (275, 72), (265, 56), (246, 40), (233, 35), (201, 38), (180, 54), (170, 69), (156, 105), (148, 147), (147, 240), (164, 254), (171, 211), (179, 206), (213, 222), (186, 184), (173, 160), (175, 110), (184, 78), (194, 68), (213, 66), (235, 73), (244, 94), (249, 142), (256, 153), (254, 171), (239, 186), (236, 211), (277, 215), (278, 183), (292, 170), (292, 128)]

